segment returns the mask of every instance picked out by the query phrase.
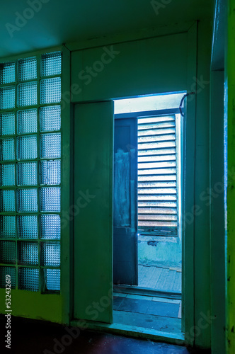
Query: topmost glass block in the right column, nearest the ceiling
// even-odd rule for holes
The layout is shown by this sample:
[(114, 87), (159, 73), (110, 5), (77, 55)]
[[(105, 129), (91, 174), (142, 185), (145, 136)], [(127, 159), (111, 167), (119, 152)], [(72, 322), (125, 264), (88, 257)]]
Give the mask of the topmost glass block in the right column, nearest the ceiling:
[(61, 74), (62, 53), (42, 54), (41, 76)]

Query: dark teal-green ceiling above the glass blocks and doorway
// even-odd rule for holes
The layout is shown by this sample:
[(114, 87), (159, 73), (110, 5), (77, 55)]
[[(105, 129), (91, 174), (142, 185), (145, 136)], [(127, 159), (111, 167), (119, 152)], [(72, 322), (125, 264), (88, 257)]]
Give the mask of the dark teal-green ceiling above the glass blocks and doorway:
[[(65, 42), (132, 33), (212, 17), (213, 0), (155, 1), (155, 4), (161, 4), (158, 15), (152, 2), (154, 1), (0, 0), (0, 57)], [(37, 5), (37, 8), (33, 10), (30, 4)]]

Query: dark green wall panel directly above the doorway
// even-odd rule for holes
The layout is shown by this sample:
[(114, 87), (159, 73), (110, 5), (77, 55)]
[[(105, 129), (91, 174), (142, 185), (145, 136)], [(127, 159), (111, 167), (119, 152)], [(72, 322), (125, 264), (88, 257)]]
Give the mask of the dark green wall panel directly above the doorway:
[(187, 33), (78, 50), (71, 53), (71, 101), (184, 91), (186, 67)]

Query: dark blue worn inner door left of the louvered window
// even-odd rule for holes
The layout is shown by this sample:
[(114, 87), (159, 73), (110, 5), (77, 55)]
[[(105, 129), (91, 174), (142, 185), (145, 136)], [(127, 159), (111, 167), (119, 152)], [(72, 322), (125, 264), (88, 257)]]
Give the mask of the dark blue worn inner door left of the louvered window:
[(138, 285), (137, 119), (116, 119), (113, 196), (114, 284)]

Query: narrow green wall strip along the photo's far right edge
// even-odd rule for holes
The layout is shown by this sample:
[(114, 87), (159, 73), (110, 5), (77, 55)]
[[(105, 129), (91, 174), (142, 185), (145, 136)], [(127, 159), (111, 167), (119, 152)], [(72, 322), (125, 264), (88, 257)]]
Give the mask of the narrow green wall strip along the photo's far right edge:
[(235, 353), (235, 1), (228, 1), (225, 93), (227, 120), (227, 353)]

